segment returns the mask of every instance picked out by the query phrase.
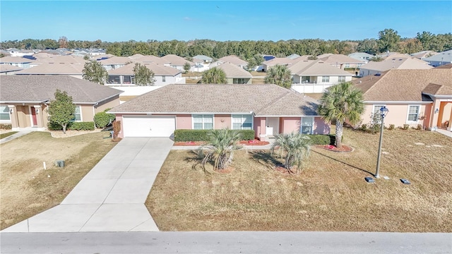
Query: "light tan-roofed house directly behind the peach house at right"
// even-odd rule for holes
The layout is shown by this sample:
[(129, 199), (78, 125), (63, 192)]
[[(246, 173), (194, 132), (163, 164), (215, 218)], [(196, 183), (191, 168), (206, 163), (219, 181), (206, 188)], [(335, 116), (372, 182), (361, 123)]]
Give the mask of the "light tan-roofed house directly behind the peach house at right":
[(367, 75), (380, 75), (383, 71), (388, 71), (392, 69), (399, 70), (410, 70), (410, 69), (430, 69), (433, 68), (429, 66), (429, 63), (422, 61), (411, 56), (403, 57), (388, 57), (383, 61), (369, 61), (369, 63), (364, 64), (359, 67), (359, 76), (365, 77)]

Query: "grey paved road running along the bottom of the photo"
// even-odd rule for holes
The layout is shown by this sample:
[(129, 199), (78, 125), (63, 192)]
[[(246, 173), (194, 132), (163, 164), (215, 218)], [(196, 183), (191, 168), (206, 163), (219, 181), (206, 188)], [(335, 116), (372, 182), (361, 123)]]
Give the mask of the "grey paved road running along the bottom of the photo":
[(452, 253), (452, 234), (361, 232), (1, 233), (1, 253)]

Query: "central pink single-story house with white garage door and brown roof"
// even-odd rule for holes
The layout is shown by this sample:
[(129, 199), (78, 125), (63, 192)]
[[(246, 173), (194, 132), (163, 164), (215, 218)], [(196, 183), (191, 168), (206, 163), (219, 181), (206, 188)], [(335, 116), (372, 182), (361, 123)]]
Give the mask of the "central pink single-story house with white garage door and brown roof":
[(278, 85), (167, 85), (114, 107), (119, 137), (170, 137), (177, 129), (328, 134), (319, 102)]

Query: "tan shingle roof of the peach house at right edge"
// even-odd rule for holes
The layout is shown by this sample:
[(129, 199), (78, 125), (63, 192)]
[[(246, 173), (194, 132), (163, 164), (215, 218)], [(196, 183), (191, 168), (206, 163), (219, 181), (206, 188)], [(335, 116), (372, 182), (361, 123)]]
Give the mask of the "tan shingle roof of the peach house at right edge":
[(452, 70), (390, 70), (353, 80), (364, 101), (422, 102), (422, 92), (452, 96)]

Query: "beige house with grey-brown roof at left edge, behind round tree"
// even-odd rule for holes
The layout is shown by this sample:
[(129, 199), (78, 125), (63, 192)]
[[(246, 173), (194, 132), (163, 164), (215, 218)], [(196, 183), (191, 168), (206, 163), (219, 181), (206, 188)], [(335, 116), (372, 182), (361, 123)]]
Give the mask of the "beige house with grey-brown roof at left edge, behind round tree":
[(6, 75), (1, 77), (0, 123), (13, 131), (47, 128), (47, 107), (54, 92), (66, 91), (76, 104), (74, 121), (93, 121), (94, 114), (119, 105), (121, 91), (69, 76)]

